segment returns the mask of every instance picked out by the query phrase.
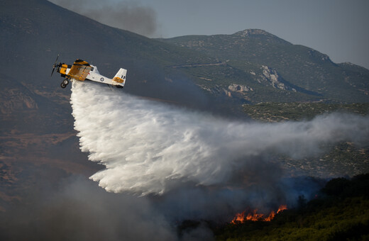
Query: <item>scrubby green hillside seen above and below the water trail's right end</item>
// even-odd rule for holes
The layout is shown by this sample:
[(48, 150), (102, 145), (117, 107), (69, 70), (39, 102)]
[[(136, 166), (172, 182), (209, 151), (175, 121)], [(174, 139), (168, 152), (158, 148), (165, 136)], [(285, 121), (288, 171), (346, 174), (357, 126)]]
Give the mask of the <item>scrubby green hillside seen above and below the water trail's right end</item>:
[[(263, 122), (280, 122), (287, 120), (311, 120), (324, 113), (355, 113), (368, 115), (369, 103), (258, 103), (244, 104), (243, 111), (254, 120)], [(369, 147), (358, 147), (353, 142), (340, 142), (337, 145), (321, 147), (324, 155), (304, 159), (304, 174), (326, 176), (329, 173), (340, 173), (353, 176), (369, 172)], [(280, 162), (290, 168), (290, 172), (301, 172), (302, 160), (280, 157)], [(332, 176), (333, 177), (333, 176)]]

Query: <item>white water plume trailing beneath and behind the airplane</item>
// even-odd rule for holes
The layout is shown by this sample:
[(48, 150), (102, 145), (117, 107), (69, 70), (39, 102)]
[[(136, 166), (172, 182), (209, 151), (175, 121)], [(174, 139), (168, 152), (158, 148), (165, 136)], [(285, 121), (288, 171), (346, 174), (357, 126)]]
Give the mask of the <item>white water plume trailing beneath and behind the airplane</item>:
[(163, 195), (189, 186), (221, 190), (256, 182), (265, 196), (281, 189), (276, 185), (282, 171), (269, 161), (272, 155), (308, 157), (322, 152), (322, 144), (360, 144), (369, 136), (367, 117), (331, 114), (311, 121), (244, 123), (91, 83), (74, 82), (71, 103), (82, 151), (106, 167), (90, 178), (116, 193)]

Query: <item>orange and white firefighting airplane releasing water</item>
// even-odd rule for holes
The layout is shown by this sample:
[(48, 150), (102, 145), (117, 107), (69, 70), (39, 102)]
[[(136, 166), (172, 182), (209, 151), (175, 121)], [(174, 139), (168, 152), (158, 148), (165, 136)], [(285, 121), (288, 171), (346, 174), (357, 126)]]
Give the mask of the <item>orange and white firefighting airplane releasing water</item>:
[[(57, 55), (57, 58), (59, 55)], [(123, 88), (126, 83), (126, 74), (127, 69), (119, 69), (113, 79), (109, 79), (107, 77), (99, 74), (97, 67), (94, 65), (89, 65), (88, 62), (84, 60), (75, 60), (73, 65), (66, 65), (65, 63), (59, 62), (57, 64), (57, 58), (53, 65), (53, 72), (51, 72), (51, 76), (53, 76), (55, 68), (57, 68), (57, 72), (65, 77), (62, 81), (62, 88), (65, 88), (67, 84), (69, 84), (71, 79), (76, 79), (78, 81), (91, 80), (93, 82), (99, 82), (102, 84), (110, 84), (116, 86), (116, 88)]]

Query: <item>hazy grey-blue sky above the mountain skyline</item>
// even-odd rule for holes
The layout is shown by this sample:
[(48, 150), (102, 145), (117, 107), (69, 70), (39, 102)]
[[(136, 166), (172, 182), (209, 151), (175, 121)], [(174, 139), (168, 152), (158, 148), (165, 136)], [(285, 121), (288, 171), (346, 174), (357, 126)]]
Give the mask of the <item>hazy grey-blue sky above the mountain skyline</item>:
[(369, 69), (368, 0), (50, 1), (70, 8), (74, 5), (74, 11), (90, 12), (91, 18), (93, 13), (101, 22), (133, 32), (136, 29), (151, 38), (260, 28), (290, 43), (312, 47), (334, 62), (353, 62)]

